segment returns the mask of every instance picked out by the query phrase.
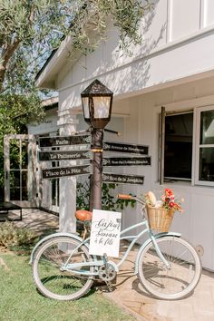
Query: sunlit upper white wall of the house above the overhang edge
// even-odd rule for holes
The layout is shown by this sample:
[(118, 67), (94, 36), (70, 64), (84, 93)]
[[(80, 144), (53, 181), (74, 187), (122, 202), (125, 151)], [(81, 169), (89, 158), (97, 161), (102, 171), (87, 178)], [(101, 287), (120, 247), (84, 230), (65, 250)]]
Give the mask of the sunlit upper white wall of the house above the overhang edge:
[(141, 22), (144, 41), (120, 52), (118, 35), (109, 25), (109, 39), (73, 65), (64, 63), (56, 81), (61, 110), (81, 104), (80, 92), (98, 77), (119, 96), (151, 91), (167, 83), (213, 71), (214, 5), (211, 0), (153, 1), (154, 9)]

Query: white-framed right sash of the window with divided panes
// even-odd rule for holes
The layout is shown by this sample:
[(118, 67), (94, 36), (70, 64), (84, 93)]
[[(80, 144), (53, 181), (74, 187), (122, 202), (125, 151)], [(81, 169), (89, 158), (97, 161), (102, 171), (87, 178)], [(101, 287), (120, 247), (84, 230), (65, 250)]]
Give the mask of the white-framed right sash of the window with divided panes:
[(214, 186), (214, 106), (196, 110), (195, 183)]

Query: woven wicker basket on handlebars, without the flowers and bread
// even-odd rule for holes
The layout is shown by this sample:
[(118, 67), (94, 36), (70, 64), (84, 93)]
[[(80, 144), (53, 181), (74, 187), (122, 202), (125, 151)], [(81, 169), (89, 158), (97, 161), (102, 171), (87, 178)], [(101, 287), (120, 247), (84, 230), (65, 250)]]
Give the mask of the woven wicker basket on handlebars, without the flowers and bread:
[(168, 232), (174, 216), (173, 209), (157, 209), (147, 206), (147, 215), (151, 229)]

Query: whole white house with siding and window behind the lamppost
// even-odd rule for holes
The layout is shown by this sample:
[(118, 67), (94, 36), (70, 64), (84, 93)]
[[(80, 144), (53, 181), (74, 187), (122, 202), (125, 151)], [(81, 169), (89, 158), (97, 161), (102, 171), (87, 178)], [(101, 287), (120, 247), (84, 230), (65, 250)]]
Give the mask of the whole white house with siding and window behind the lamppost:
[[(123, 185), (123, 191), (160, 194), (167, 186), (182, 196), (185, 212), (176, 215), (172, 229), (198, 246), (203, 267), (213, 270), (214, 2), (156, 0), (141, 22), (141, 32), (144, 41), (131, 47), (131, 57), (121, 55), (112, 25), (108, 41), (87, 56), (75, 53), (75, 59), (69, 58), (73, 42), (65, 39), (39, 73), (37, 85), (59, 92), (61, 135), (85, 127), (81, 92), (94, 79), (114, 92), (108, 128), (117, 129), (118, 123), (122, 136), (111, 140), (148, 145), (151, 155), (151, 166), (121, 169), (145, 177), (143, 186)], [(162, 106), (165, 140), (160, 132)], [(72, 229), (75, 180), (62, 178), (60, 184), (61, 227)], [(139, 219), (130, 210), (123, 215), (124, 226)]]

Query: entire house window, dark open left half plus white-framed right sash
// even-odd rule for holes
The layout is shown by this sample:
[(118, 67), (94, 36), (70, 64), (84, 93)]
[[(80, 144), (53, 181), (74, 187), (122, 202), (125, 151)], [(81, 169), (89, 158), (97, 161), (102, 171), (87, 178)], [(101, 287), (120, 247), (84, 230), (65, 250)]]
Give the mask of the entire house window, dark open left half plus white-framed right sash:
[(166, 113), (163, 122), (160, 182), (162, 174), (165, 181), (190, 180), (196, 185), (214, 186), (214, 106)]

